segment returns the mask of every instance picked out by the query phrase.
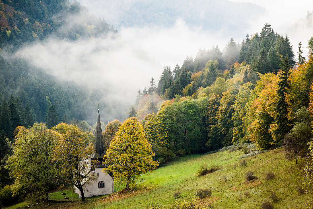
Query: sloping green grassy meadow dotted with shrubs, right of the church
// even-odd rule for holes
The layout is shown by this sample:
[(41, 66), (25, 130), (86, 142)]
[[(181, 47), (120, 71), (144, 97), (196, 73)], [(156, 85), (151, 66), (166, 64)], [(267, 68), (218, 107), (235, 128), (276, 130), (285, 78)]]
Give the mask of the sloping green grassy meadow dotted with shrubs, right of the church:
[[(285, 159), (283, 149), (273, 149), (245, 158), (248, 166), (241, 167), (238, 157), (242, 155), (240, 150), (227, 150), (178, 157), (150, 175), (143, 175), (143, 180), (139, 179), (131, 191), (117, 191), (85, 203), (52, 203), (49, 208), (144, 208), (151, 202), (168, 208), (176, 201), (173, 197), (175, 191), (182, 194), (178, 200), (186, 200), (196, 197), (195, 193), (200, 188), (212, 190), (211, 197), (201, 199), (203, 206), (212, 203), (214, 208), (259, 208), (264, 200), (270, 200), (269, 195), (274, 191), (278, 197), (278, 201), (273, 203), (274, 208), (306, 208), (306, 200), (312, 194), (300, 195), (297, 191), (301, 185), (303, 159), (299, 160), (299, 165), (295, 165), (295, 161)], [(204, 163), (221, 165), (222, 169), (198, 177), (197, 170)], [(250, 170), (258, 178), (247, 182), (245, 174)], [(266, 180), (267, 172), (273, 172), (275, 178)], [(244, 195), (245, 191), (249, 191), (248, 196)], [(240, 195), (242, 200), (239, 200)], [(37, 208), (46, 208), (46, 203)]]

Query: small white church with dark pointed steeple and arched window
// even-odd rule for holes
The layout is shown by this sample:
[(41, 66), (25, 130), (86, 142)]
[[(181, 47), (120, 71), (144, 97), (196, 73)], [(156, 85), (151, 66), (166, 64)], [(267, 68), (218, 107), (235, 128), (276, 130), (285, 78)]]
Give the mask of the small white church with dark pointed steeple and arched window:
[[(88, 156), (88, 165), (90, 167), (90, 171), (93, 175), (95, 175), (96, 180), (91, 183), (83, 183), (84, 196), (98, 196), (110, 194), (114, 191), (114, 176), (112, 173), (102, 172), (102, 169), (105, 168), (105, 165), (102, 165), (103, 156), (105, 154), (104, 146), (103, 146), (103, 137), (102, 137), (102, 129), (100, 122), (100, 113), (98, 109), (98, 120), (97, 127), (95, 132), (95, 153)], [(98, 164), (98, 165), (97, 165)], [(74, 188), (74, 192), (80, 195), (80, 190), (78, 188)]]

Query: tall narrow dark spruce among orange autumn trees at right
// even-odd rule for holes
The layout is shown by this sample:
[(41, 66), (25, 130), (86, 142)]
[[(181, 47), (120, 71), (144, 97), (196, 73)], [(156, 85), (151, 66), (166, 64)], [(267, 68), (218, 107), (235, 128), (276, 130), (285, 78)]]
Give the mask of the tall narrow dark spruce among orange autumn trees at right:
[(277, 143), (277, 146), (281, 146), (284, 135), (288, 133), (289, 127), (288, 127), (288, 110), (287, 110), (287, 103), (286, 103), (286, 97), (285, 94), (287, 93), (287, 90), (289, 87), (289, 81), (288, 77), (290, 75), (290, 65), (289, 65), (289, 59), (287, 56), (285, 56), (284, 60), (282, 60), (282, 66), (281, 66), (281, 72), (278, 76), (278, 89), (277, 89), (277, 95), (278, 95), (278, 103), (277, 103), (277, 116), (276, 116), (276, 130), (274, 131), (275, 141)]

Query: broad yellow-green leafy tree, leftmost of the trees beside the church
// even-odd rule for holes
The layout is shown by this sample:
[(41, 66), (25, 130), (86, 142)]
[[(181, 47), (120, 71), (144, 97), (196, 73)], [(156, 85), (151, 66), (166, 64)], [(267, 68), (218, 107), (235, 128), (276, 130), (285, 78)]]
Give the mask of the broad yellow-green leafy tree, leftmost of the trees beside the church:
[(49, 187), (56, 179), (52, 162), (54, 147), (60, 135), (49, 130), (44, 123), (35, 123), (31, 128), (22, 127), (16, 136), (14, 154), (8, 166), (16, 178), (14, 186), (23, 188), (30, 200), (49, 199)]

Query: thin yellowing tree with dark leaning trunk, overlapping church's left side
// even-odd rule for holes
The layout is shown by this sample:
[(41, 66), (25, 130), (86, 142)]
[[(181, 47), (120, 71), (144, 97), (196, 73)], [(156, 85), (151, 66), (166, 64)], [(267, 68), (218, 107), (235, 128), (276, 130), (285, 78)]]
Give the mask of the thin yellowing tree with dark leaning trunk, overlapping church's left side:
[(83, 184), (95, 180), (95, 175), (88, 166), (89, 159), (86, 155), (94, 153), (94, 145), (89, 144), (90, 133), (84, 132), (74, 125), (60, 123), (52, 129), (59, 132), (62, 137), (58, 139), (55, 146), (54, 162), (59, 165), (60, 177), (64, 179), (67, 186), (75, 186), (80, 190), (81, 200), (85, 201)]

